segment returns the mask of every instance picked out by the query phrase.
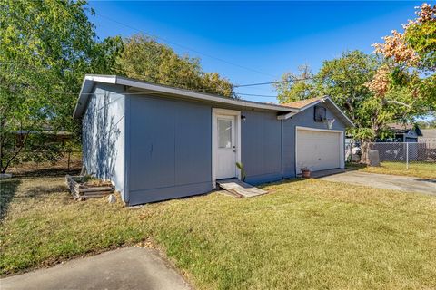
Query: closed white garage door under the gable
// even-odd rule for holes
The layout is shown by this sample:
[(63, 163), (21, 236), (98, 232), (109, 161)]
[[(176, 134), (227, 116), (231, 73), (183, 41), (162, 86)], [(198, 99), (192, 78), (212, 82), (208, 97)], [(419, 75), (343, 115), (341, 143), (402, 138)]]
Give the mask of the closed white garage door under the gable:
[(297, 174), (304, 167), (311, 171), (342, 168), (342, 131), (297, 128), (295, 151)]

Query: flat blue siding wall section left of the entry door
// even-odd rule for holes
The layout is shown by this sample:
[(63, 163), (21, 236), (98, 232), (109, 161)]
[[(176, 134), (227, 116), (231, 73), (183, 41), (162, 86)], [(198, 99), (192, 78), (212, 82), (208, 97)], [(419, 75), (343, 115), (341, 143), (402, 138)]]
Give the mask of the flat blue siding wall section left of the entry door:
[(212, 107), (128, 98), (129, 205), (212, 190)]

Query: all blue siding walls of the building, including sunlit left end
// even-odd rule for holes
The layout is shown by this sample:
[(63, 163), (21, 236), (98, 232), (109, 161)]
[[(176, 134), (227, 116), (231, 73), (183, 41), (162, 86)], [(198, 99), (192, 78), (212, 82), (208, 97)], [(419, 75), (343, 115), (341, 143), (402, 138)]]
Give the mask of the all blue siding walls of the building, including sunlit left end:
[[(83, 120), (89, 173), (111, 179), (129, 205), (212, 190), (211, 105), (124, 96), (123, 87), (110, 84), (94, 92)], [(241, 113), (241, 158), (252, 184), (295, 176), (296, 126), (325, 129), (313, 120), (313, 108), (285, 121), (275, 111)], [(327, 117), (335, 118), (329, 109)], [(345, 127), (336, 120), (332, 129)]]

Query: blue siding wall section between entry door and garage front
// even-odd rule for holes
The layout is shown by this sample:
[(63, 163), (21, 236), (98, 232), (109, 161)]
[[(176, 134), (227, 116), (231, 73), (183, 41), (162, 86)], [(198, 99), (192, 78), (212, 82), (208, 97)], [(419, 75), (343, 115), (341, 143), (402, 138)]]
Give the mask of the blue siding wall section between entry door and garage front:
[(275, 111), (242, 111), (241, 160), (245, 181), (252, 184), (282, 179), (282, 121)]

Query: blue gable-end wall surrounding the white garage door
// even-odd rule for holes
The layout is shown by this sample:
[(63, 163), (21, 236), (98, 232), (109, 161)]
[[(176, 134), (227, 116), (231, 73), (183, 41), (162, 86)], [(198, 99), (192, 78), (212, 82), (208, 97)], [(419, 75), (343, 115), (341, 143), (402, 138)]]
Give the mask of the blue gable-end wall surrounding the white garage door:
[[(314, 107), (302, 111), (283, 121), (283, 178), (295, 177), (295, 127), (327, 129), (325, 123), (313, 120)], [(327, 108), (327, 118), (335, 118), (332, 130), (345, 131), (344, 124)], [(345, 136), (345, 134), (344, 134)], [(345, 141), (345, 140), (343, 140)], [(345, 154), (345, 152), (344, 152)]]

